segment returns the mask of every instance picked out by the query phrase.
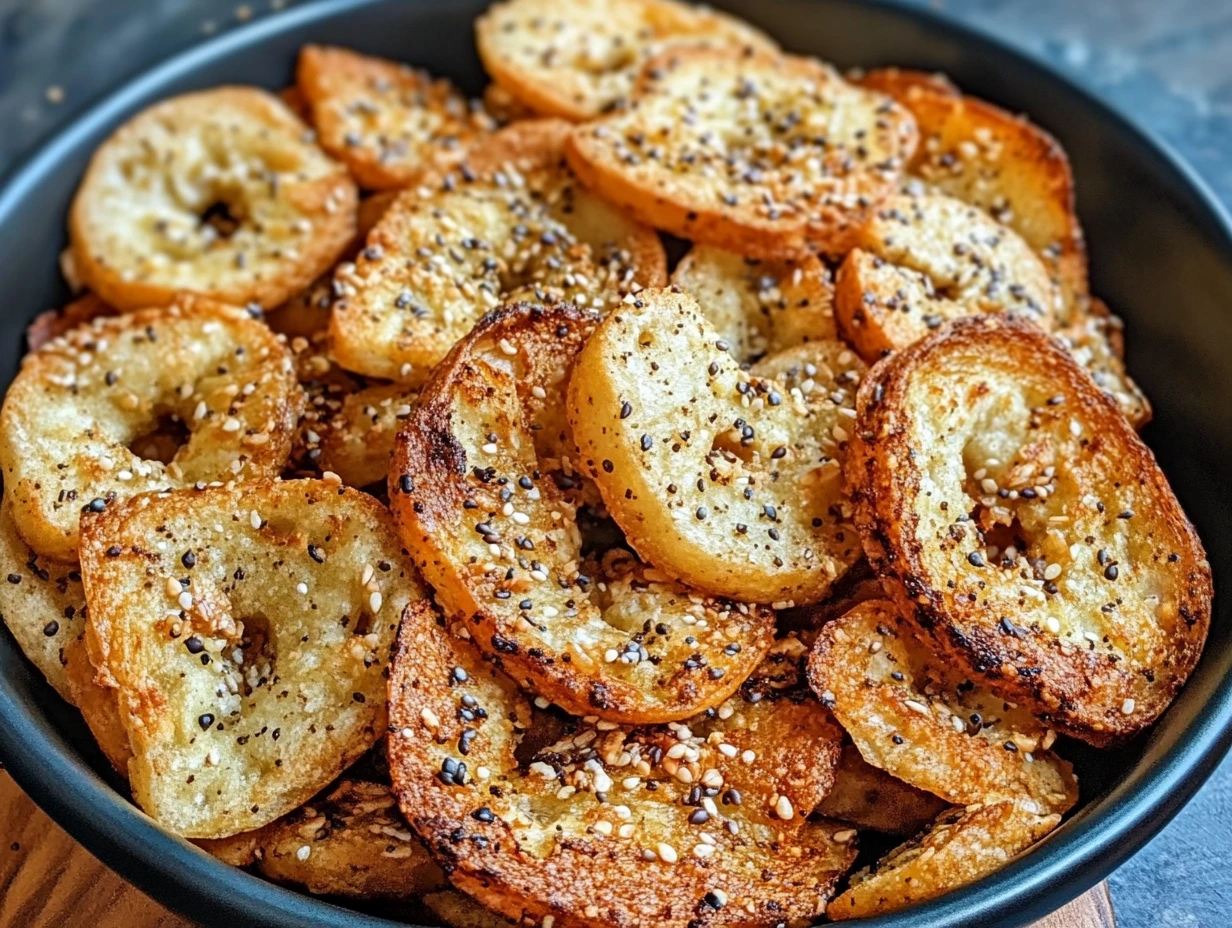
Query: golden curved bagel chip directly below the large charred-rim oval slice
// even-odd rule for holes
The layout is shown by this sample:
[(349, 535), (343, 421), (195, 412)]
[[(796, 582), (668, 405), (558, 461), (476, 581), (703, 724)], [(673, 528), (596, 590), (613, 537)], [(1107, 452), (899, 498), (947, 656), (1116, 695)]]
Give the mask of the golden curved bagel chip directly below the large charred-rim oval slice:
[(818, 636), (809, 683), (864, 759), (955, 805), (1073, 806), (1073, 770), (1048, 751), (1056, 732), (947, 667), (915, 633), (891, 603), (871, 600)]

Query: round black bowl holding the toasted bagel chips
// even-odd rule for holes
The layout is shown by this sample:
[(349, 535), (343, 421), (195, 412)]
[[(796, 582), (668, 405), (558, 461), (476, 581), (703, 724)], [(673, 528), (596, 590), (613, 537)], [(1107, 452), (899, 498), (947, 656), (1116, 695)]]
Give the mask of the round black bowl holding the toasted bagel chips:
[[(562, 0), (568, 2), (568, 0)], [(65, 298), (55, 255), (90, 153), (134, 111), (224, 83), (290, 83), (304, 42), (424, 65), (471, 91), (483, 83), (471, 23), (484, 0), (325, 0), (207, 42), (94, 107), (0, 192), (0, 373), (22, 329)], [(1047, 67), (936, 14), (859, 0), (727, 0), (792, 51), (840, 67), (947, 71), (968, 91), (1030, 112), (1068, 149), (1093, 286), (1129, 325), (1130, 367), (1156, 405), (1146, 438), (1205, 539), (1216, 584), (1232, 577), (1232, 226), (1159, 142)], [(1084, 805), (1035, 853), (945, 898), (870, 926), (1024, 924), (1108, 875), (1158, 832), (1232, 742), (1232, 609), (1216, 600), (1206, 653), (1154, 728), (1100, 753), (1069, 746)], [(170, 908), (208, 926), (389, 926), (234, 870), (161, 832), (83, 727), (0, 635), (0, 757), (73, 837)]]

